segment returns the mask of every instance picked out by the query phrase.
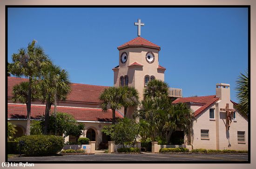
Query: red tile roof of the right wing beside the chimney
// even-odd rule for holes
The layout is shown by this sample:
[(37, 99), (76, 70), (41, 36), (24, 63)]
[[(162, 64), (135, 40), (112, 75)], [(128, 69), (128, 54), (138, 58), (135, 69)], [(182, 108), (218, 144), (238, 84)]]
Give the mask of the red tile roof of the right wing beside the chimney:
[(172, 103), (201, 103), (203, 104), (199, 109), (197, 109), (194, 112), (194, 116), (196, 117), (198, 114), (202, 113), (204, 110), (206, 110), (210, 105), (215, 103), (217, 100), (219, 100), (216, 95), (211, 95), (211, 96), (199, 96), (199, 97), (183, 97), (183, 98), (178, 98), (174, 100)]

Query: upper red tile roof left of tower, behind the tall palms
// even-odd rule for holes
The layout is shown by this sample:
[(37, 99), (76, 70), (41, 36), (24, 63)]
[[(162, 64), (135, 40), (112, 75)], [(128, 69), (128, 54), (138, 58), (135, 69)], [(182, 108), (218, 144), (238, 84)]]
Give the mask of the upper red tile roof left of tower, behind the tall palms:
[[(26, 78), (8, 77), (7, 96), (13, 97), (13, 86), (22, 81), (28, 81)], [(108, 86), (95, 86), (88, 84), (71, 83), (71, 92), (67, 96), (67, 101), (101, 103), (100, 94)]]

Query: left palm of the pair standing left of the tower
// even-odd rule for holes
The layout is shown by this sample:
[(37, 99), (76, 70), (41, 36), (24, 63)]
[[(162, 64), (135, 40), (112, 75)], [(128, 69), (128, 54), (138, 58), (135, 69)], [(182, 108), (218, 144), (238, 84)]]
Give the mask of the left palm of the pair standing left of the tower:
[(112, 110), (112, 124), (115, 124), (115, 110), (122, 107), (122, 97), (123, 92), (121, 88), (110, 87), (105, 88), (105, 90), (100, 95), (100, 100), (102, 101), (101, 107), (104, 112), (109, 108)]

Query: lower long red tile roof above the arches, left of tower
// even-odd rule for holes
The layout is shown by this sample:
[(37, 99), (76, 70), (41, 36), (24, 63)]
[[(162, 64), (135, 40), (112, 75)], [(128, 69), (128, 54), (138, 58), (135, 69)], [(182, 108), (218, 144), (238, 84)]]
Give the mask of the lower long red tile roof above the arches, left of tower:
[[(27, 107), (26, 105), (19, 104), (8, 104), (7, 117), (9, 119), (27, 119)], [(54, 106), (52, 106), (51, 111), (54, 111)], [(57, 111), (62, 113), (69, 113), (74, 116), (76, 120), (84, 121), (111, 121), (112, 120), (112, 110), (103, 112), (101, 109), (92, 108), (78, 108), (78, 107), (58, 107)], [(45, 105), (36, 106), (31, 105), (31, 119), (39, 119), (45, 113)], [(115, 112), (116, 118), (122, 118), (121, 114), (117, 111)]]

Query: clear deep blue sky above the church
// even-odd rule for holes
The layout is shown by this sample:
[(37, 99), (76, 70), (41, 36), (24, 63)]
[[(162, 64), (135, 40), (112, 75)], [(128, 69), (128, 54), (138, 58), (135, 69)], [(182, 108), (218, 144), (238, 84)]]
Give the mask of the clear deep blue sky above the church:
[(9, 8), (8, 62), (38, 41), (75, 83), (113, 86), (117, 47), (137, 37), (161, 46), (165, 81), (183, 97), (213, 95), (229, 83), (231, 99), (248, 68), (247, 8)]

